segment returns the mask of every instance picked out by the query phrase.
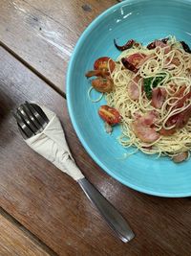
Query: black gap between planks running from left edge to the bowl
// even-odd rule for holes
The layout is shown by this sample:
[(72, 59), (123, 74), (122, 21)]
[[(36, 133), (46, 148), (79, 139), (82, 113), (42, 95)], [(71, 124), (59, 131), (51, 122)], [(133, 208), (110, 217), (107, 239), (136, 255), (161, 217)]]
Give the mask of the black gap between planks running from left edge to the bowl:
[(60, 90), (58, 88), (58, 86), (56, 86), (53, 83), (53, 81), (50, 81), (45, 76), (43, 76), (38, 70), (36, 70), (34, 67), (32, 67), (32, 65), (30, 65), (25, 59), (18, 56), (14, 51), (11, 50), (10, 47), (8, 47), (2, 41), (0, 41), (0, 46), (3, 47), (7, 52), (9, 52), (13, 58), (16, 58), (23, 65), (25, 65), (27, 68), (29, 68), (32, 71), (32, 73), (34, 73), (39, 79), (41, 79), (42, 81), (45, 81), (47, 84), (49, 84), (53, 88), (53, 90), (55, 90), (58, 94), (60, 94), (66, 100), (66, 93), (63, 92), (62, 90)]

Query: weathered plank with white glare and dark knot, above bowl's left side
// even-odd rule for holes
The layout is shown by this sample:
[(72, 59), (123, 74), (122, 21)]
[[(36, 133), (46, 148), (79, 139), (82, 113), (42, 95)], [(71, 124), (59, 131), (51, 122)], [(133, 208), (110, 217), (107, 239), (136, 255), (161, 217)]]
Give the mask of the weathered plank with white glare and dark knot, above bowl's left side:
[(0, 40), (33, 69), (65, 90), (74, 45), (84, 29), (117, 1), (1, 0)]

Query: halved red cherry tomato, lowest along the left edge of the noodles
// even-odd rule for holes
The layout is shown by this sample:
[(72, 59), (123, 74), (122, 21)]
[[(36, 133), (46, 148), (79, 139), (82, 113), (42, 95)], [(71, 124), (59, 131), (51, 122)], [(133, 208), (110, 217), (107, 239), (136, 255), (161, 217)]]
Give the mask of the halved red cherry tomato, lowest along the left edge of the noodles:
[(110, 126), (118, 124), (121, 120), (117, 109), (109, 105), (101, 105), (98, 109), (98, 114)]

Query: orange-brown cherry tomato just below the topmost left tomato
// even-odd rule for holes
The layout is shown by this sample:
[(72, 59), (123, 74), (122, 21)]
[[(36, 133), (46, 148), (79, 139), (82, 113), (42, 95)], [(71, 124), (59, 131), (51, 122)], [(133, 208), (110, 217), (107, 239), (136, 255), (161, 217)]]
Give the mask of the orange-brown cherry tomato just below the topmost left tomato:
[(99, 92), (111, 92), (114, 87), (114, 82), (110, 78), (97, 78), (92, 81), (93, 87)]

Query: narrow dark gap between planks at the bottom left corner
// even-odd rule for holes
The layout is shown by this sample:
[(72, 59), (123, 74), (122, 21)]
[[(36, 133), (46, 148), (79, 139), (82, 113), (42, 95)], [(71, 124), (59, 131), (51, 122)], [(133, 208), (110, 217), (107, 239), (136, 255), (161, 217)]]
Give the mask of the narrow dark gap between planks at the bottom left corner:
[(58, 256), (57, 253), (53, 251), (51, 247), (43, 243), (39, 238), (32, 234), (25, 226), (23, 226), (19, 221), (16, 221), (7, 211), (0, 207), (0, 215), (3, 216), (7, 221), (10, 221), (16, 228), (21, 230), (26, 237), (28, 237), (34, 244), (40, 246), (44, 251), (46, 251), (51, 256)]

